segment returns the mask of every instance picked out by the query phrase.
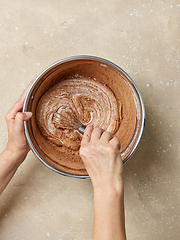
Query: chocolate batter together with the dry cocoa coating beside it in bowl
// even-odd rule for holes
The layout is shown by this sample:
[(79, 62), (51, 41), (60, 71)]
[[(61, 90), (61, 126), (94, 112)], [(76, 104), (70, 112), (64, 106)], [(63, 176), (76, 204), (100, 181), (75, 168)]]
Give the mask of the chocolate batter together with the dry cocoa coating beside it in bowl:
[(84, 125), (93, 124), (110, 131), (120, 139), (121, 152), (127, 147), (136, 125), (134, 99), (123, 80), (117, 85), (111, 80), (106, 83), (76, 74), (52, 86), (42, 95), (36, 109), (37, 125), (47, 142), (40, 148), (51, 157), (50, 164), (76, 175), (87, 174), (79, 156), (82, 135), (64, 128), (56, 112), (75, 114)]

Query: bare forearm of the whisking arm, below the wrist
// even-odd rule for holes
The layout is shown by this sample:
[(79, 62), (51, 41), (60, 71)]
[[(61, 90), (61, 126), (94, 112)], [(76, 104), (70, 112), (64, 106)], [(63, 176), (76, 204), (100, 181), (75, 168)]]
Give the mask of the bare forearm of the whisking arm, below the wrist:
[(107, 190), (94, 192), (93, 240), (125, 240), (124, 193)]

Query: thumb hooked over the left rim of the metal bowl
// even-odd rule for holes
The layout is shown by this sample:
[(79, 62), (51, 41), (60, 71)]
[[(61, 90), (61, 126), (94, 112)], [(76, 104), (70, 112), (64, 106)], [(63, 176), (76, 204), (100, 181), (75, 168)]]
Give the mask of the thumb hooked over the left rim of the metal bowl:
[(24, 121), (27, 121), (31, 118), (32, 113), (31, 112), (18, 112), (15, 117), (14, 121), (14, 131), (17, 133), (17, 136), (19, 134), (22, 134), (24, 132)]

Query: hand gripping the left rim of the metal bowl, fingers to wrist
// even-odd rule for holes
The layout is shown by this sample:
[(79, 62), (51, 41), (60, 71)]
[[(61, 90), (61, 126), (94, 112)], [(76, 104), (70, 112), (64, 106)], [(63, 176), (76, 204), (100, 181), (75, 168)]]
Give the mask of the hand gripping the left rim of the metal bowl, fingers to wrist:
[(7, 150), (19, 156), (26, 156), (30, 150), (24, 133), (24, 121), (31, 118), (31, 112), (22, 112), (24, 100), (28, 89), (23, 93), (21, 98), (6, 113), (6, 123), (8, 127), (8, 144)]

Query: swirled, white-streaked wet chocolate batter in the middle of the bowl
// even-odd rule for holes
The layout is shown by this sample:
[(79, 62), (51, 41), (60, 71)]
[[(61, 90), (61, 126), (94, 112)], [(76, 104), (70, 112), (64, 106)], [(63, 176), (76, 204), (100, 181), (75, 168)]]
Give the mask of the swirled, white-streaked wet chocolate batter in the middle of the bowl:
[(115, 134), (120, 124), (119, 107), (113, 92), (95, 80), (69, 78), (60, 81), (41, 97), (36, 120), (45, 138), (78, 154), (81, 134), (63, 127), (55, 113), (76, 115), (84, 124), (93, 124)]

